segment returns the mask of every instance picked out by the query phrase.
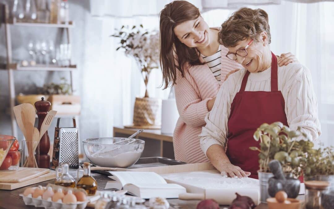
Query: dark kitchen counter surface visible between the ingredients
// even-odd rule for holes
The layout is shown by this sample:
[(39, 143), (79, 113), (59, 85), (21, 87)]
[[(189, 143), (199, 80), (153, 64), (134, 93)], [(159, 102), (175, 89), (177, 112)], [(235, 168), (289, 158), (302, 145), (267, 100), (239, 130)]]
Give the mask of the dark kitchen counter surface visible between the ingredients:
[[(51, 171), (53, 172), (53, 171)], [(71, 175), (75, 176), (76, 172), (71, 171)], [(104, 187), (109, 180), (107, 176), (102, 176), (99, 174), (92, 174), (92, 176), (97, 180), (98, 182), (98, 190), (102, 191), (104, 190)], [(45, 182), (41, 182), (38, 184), (30, 185), (28, 187), (32, 186), (46, 186), (48, 183), (54, 184), (54, 180), (49, 180)], [(0, 208), (4, 209), (17, 209), (17, 208), (35, 208), (34, 206), (26, 206), (24, 205), (22, 197), (19, 196), (19, 194), (23, 193), (23, 191), (26, 189), (26, 187), (22, 187), (15, 190), (0, 190)], [(298, 199), (304, 199), (304, 195), (299, 195)], [(170, 203), (171, 207), (170, 209), (195, 209), (196, 205), (199, 200), (179, 200), (179, 199), (168, 199), (168, 202)], [(225, 206), (226, 207), (226, 206)], [(224, 208), (224, 206), (220, 206), (220, 208)], [(257, 209), (267, 209), (267, 204), (260, 204)]]

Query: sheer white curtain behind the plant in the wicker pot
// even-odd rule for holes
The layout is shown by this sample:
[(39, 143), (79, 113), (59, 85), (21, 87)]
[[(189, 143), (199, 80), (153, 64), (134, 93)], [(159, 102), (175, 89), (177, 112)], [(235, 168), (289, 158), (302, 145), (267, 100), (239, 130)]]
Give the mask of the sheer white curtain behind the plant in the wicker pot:
[[(120, 40), (110, 35), (122, 25), (140, 25), (158, 29), (157, 16), (88, 17), (85, 22), (87, 44), (82, 76), (81, 134), (88, 137), (111, 137), (113, 126), (132, 124), (135, 97), (145, 95), (145, 85), (136, 62), (116, 51)], [(160, 69), (151, 72), (150, 97), (166, 99), (170, 89), (158, 88), (162, 83)], [(85, 127), (90, 127), (86, 129)], [(94, 127), (94, 132), (91, 130)]]

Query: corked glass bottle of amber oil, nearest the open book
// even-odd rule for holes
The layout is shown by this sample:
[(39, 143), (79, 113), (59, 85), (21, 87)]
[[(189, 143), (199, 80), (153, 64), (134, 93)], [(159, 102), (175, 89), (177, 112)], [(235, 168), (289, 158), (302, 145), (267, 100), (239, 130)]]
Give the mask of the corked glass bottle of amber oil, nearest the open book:
[[(88, 196), (95, 195), (96, 191), (98, 190), (98, 183), (91, 176), (90, 165), (91, 164), (88, 162), (83, 163), (83, 176), (76, 183), (76, 187), (86, 190)], [(80, 171), (82, 170), (80, 169), (77, 170), (77, 178), (79, 178)]]

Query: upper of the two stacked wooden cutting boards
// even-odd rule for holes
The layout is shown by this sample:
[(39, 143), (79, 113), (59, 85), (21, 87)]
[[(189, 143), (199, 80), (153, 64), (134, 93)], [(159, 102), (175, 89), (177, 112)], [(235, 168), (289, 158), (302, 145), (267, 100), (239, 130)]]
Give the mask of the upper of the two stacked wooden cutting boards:
[(0, 183), (20, 183), (50, 172), (45, 168), (23, 168), (16, 171), (0, 171)]

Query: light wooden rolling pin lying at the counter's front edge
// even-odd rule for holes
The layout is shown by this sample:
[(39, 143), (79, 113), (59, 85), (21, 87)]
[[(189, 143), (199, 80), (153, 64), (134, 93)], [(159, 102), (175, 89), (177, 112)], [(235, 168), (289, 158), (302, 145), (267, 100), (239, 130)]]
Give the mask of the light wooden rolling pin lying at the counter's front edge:
[(214, 199), (219, 205), (230, 205), (236, 198), (235, 193), (242, 196), (252, 198), (256, 205), (260, 203), (260, 191), (258, 189), (243, 189), (243, 188), (229, 188), (229, 189), (205, 189), (203, 193), (181, 193), (180, 200), (205, 200)]

